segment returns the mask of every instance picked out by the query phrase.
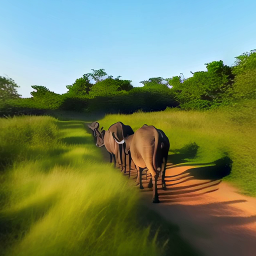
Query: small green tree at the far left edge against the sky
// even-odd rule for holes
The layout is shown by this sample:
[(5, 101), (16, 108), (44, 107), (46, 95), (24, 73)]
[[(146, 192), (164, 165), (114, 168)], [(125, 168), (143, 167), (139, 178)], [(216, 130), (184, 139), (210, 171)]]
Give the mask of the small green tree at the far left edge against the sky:
[(0, 100), (19, 98), (16, 88), (19, 86), (10, 77), (0, 76)]

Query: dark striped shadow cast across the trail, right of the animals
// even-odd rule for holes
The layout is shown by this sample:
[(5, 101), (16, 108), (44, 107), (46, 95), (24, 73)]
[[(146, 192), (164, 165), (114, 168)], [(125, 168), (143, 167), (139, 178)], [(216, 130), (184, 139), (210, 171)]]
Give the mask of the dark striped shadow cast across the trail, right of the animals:
[[(171, 169), (175, 167), (168, 165), (166, 168), (167, 175), (164, 178), (166, 190), (162, 190), (159, 180), (157, 181), (159, 199), (162, 202), (176, 203), (196, 200), (196, 198), (203, 194), (217, 191), (221, 179), (231, 173), (232, 160), (228, 157), (227, 153), (225, 154), (224, 157), (207, 163), (211, 164), (211, 166), (198, 166), (200, 164), (196, 164), (195, 167), (191, 167), (175, 175), (171, 175)], [(205, 165), (205, 163), (202, 164)], [(131, 171), (131, 176), (132, 179), (135, 179), (136, 171)], [(147, 177), (148, 175), (146, 174), (142, 177), (143, 184), (149, 182)], [(148, 188), (141, 192), (149, 192), (150, 190)]]

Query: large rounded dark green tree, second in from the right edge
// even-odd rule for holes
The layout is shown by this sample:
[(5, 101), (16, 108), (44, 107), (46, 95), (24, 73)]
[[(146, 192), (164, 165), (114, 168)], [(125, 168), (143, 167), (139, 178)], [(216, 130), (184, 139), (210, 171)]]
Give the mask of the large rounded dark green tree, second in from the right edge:
[(183, 109), (203, 109), (221, 104), (223, 93), (232, 85), (231, 67), (222, 60), (206, 63), (207, 71), (194, 72), (192, 77), (166, 79)]

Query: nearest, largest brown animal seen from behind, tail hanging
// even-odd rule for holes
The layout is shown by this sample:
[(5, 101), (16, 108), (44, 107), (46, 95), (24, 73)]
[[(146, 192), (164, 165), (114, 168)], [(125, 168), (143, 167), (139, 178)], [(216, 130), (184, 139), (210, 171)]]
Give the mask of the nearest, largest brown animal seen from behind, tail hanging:
[[(123, 143), (113, 135), (117, 143)], [(157, 179), (162, 174), (162, 187), (165, 189), (164, 175), (169, 150), (169, 140), (164, 132), (154, 126), (144, 124), (135, 133), (125, 139), (125, 153), (130, 151), (131, 158), (136, 166), (139, 176), (137, 181), (142, 189), (142, 170), (147, 168), (151, 174), (148, 187), (153, 186), (153, 202), (159, 202), (157, 192)], [(152, 180), (153, 178), (153, 180)], [(153, 182), (152, 182), (153, 181)]]

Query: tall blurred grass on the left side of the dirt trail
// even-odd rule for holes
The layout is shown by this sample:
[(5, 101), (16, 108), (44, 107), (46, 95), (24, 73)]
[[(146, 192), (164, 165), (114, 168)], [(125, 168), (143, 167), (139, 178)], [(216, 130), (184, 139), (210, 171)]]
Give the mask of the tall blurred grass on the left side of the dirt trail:
[(0, 118), (0, 255), (198, 255), (138, 204), (84, 125)]

